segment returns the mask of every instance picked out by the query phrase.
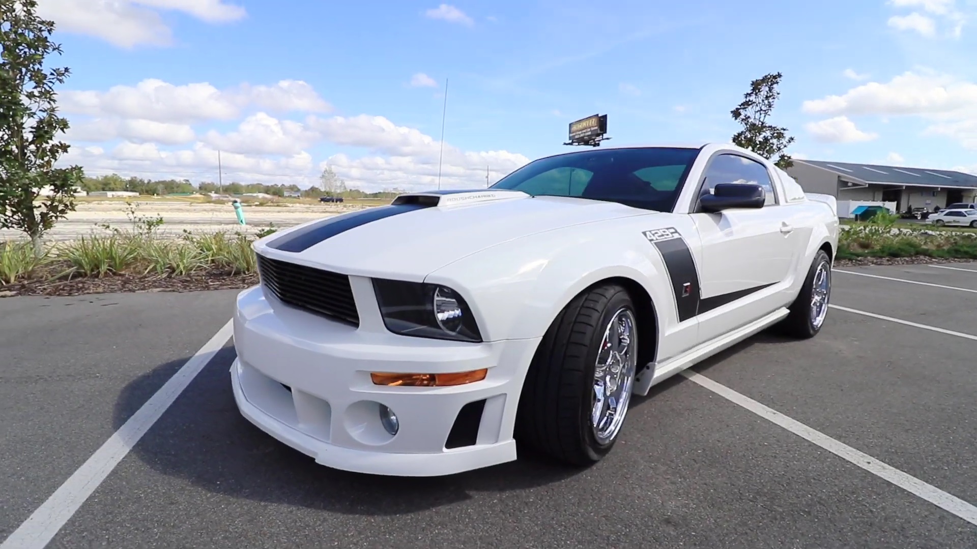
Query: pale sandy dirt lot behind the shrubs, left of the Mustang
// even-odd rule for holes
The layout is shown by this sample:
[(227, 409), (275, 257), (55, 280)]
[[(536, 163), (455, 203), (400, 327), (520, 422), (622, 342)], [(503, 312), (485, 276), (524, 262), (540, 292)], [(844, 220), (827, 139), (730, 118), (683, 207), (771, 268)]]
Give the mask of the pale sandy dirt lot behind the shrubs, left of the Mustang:
[[(185, 229), (192, 232), (242, 231), (254, 232), (274, 224), (278, 228), (290, 227), (307, 221), (337, 215), (343, 212), (369, 207), (370, 203), (344, 204), (302, 204), (288, 203), (276, 205), (244, 205), (244, 220), (247, 226), (240, 226), (234, 216), (234, 206), (230, 203), (200, 203), (177, 200), (141, 200), (133, 203), (136, 215), (145, 218), (163, 218), (159, 232), (165, 235), (178, 235)], [(129, 206), (121, 200), (79, 202), (67, 219), (60, 221), (47, 233), (49, 241), (64, 241), (84, 236), (91, 232), (104, 232), (102, 224), (119, 229), (131, 229)], [(21, 233), (0, 230), (0, 240), (21, 237)]]

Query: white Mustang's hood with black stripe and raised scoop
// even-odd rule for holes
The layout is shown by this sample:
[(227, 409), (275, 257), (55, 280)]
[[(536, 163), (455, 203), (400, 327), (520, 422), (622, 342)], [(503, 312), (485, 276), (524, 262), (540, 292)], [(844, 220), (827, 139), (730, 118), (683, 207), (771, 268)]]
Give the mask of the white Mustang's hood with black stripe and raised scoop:
[(451, 262), (523, 236), (655, 213), (513, 190), (410, 193), (390, 206), (277, 232), (256, 242), (255, 251), (342, 274), (419, 282)]

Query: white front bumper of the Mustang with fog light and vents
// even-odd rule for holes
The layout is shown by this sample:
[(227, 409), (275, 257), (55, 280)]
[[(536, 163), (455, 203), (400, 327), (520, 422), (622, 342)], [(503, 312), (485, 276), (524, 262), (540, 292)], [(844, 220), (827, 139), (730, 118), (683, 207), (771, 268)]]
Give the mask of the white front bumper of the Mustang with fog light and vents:
[[(355, 328), (282, 305), (261, 286), (241, 292), (231, 367), (241, 414), (319, 464), (346, 471), (438, 476), (516, 458), (516, 405), (538, 338), (406, 337), (365, 314)], [(377, 386), (369, 377), (479, 368), (488, 368), (485, 380), (455, 387)], [(398, 416), (396, 436), (383, 429), (381, 403)]]

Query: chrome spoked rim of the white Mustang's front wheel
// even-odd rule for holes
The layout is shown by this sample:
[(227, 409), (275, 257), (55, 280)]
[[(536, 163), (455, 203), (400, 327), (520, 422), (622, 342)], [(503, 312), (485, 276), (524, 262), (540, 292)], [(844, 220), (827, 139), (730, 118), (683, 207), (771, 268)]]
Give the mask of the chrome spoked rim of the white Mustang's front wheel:
[(604, 328), (597, 364), (590, 424), (600, 444), (610, 443), (620, 431), (631, 401), (631, 389), (638, 363), (638, 337), (634, 314), (620, 308)]

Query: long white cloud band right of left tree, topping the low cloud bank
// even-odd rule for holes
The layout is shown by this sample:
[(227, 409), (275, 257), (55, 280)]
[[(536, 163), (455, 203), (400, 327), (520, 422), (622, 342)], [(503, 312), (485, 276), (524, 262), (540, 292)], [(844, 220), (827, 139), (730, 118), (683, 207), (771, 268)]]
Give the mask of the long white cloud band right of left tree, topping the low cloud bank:
[(169, 123), (233, 120), (243, 107), (250, 105), (273, 111), (331, 110), (312, 86), (301, 80), (282, 80), (274, 86), (243, 84), (236, 89), (218, 90), (206, 82), (173, 85), (148, 78), (136, 86), (113, 86), (106, 92), (63, 92), (59, 103), (68, 113)]

